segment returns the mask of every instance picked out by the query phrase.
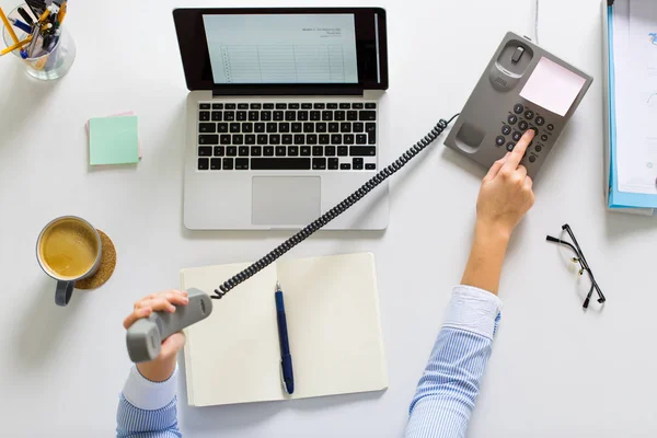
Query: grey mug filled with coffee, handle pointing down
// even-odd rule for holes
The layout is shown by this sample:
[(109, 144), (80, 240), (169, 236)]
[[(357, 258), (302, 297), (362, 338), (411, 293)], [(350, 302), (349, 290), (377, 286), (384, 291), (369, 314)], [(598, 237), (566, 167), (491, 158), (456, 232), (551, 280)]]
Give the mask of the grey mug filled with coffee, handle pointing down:
[(102, 254), (101, 237), (82, 218), (65, 216), (48, 223), (36, 246), (37, 261), (57, 280), (55, 302), (68, 304), (77, 280), (95, 274)]

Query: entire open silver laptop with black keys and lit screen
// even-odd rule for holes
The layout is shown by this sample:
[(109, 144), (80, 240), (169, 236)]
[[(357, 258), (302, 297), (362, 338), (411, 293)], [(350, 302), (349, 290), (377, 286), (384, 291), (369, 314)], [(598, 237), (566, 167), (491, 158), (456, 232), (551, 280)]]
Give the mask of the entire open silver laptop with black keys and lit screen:
[[(187, 88), (184, 223), (299, 229), (387, 164), (379, 8), (176, 9)], [(328, 223), (382, 230), (388, 182)]]

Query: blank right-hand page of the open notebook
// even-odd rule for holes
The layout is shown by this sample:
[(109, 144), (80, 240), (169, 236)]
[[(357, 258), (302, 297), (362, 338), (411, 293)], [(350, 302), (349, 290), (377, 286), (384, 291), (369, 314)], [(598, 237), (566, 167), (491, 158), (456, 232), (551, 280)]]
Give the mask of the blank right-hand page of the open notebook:
[(280, 262), (295, 399), (388, 387), (371, 254)]

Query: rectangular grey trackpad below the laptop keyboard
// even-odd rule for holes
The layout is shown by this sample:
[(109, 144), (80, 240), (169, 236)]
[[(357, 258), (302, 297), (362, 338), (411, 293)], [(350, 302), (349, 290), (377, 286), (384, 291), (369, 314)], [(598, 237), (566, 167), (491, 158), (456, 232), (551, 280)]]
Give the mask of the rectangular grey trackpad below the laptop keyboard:
[(306, 226), (322, 212), (320, 176), (254, 176), (254, 226)]

